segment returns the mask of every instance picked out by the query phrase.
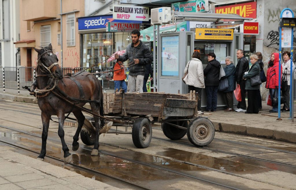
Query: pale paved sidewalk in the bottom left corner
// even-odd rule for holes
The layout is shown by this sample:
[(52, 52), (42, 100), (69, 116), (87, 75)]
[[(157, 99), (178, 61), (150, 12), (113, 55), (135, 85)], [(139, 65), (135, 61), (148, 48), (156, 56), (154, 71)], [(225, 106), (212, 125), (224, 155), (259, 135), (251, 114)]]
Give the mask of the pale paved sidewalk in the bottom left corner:
[(73, 171), (13, 152), (13, 148), (8, 146), (0, 145), (0, 152), (1, 190), (119, 190)]

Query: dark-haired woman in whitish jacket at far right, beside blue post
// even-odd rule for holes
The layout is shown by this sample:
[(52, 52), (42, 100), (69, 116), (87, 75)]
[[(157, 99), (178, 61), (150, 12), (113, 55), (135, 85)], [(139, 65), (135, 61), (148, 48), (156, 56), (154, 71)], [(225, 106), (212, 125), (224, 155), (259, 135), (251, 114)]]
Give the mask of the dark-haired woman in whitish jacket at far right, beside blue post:
[[(286, 102), (284, 103), (283, 108), (281, 109), (282, 112), (289, 112), (290, 111), (290, 68), (291, 68), (291, 59), (290, 59), (291, 53), (289, 51), (284, 51), (283, 53), (283, 59), (284, 62), (281, 64), (282, 66), (282, 74), (281, 78), (284, 80), (287, 80), (288, 86), (287, 89), (281, 89), (281, 93), (286, 99)], [(294, 70), (295, 65), (293, 63), (292, 71)], [(292, 77), (294, 78), (294, 77)]]

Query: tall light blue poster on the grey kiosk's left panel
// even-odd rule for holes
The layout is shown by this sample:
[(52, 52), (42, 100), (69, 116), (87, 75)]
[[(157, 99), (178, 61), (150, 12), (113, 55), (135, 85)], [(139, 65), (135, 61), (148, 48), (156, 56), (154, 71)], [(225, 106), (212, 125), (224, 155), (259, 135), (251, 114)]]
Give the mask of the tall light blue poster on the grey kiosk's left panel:
[(179, 76), (179, 36), (162, 37), (161, 60), (162, 76)]

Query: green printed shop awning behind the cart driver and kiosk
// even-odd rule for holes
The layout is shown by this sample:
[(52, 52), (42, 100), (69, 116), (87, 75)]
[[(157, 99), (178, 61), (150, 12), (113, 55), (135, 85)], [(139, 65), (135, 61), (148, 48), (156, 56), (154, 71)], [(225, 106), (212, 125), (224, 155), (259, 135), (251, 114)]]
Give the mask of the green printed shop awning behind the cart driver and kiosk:
[[(169, 32), (169, 31), (175, 31), (176, 30), (176, 25), (160, 25), (159, 26), (159, 32)], [(187, 22), (177, 22), (177, 32), (179, 31), (187, 31)], [(144, 30), (140, 31), (141, 36), (140, 40), (141, 41), (153, 41), (153, 26), (150, 26), (149, 28), (146, 28)]]

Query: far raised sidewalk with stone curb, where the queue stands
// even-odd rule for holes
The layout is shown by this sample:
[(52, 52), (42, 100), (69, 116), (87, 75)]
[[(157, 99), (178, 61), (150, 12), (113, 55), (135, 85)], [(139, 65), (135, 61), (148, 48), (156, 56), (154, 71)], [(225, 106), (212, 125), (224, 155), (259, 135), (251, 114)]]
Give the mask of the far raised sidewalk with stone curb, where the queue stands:
[[(106, 91), (113, 92), (113, 90)], [(17, 90), (6, 89), (5, 93), (0, 93), (0, 98), (17, 102), (37, 103), (37, 99), (24, 90), (21, 90), (20, 95), (18, 95)], [(224, 110), (221, 110), (210, 113), (205, 112), (203, 116), (208, 117), (214, 123), (217, 131), (296, 143), (296, 123), (289, 119), (290, 113), (281, 112), (282, 120), (280, 121), (276, 120), (278, 113), (269, 113), (269, 110), (271, 110), (271, 107), (266, 104), (266, 101), (263, 101), (262, 111), (259, 114), (245, 114), (244, 112), (235, 111), (224, 112)], [(296, 110), (295, 106), (294, 110)], [(295, 112), (294, 115), (296, 116)]]

